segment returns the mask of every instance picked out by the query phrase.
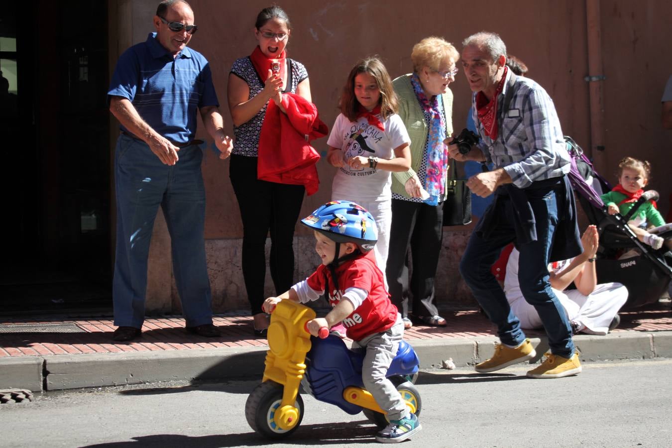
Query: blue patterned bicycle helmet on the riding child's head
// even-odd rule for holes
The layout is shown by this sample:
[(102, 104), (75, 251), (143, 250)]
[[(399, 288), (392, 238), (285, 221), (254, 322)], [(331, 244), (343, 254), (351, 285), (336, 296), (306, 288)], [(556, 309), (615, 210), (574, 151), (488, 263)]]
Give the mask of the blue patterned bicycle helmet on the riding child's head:
[(368, 253), (378, 241), (373, 216), (351, 201), (331, 201), (301, 220), (302, 224), (325, 234), (337, 243), (353, 242), (362, 253)]

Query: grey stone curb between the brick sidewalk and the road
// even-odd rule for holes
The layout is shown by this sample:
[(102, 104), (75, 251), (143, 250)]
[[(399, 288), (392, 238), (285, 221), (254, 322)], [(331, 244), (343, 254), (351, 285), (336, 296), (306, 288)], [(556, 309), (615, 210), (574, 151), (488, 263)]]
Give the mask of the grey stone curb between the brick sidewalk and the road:
[[(530, 338), (537, 362), (548, 350), (546, 338)], [(440, 368), (452, 358), (458, 367), (488, 359), (495, 337), (423, 339), (412, 345), (420, 367)], [(574, 337), (581, 361), (672, 357), (672, 331), (619, 331)], [(216, 382), (261, 378), (267, 347), (190, 349), (163, 352), (91, 353), (0, 358), (0, 388), (33, 392), (167, 381)]]

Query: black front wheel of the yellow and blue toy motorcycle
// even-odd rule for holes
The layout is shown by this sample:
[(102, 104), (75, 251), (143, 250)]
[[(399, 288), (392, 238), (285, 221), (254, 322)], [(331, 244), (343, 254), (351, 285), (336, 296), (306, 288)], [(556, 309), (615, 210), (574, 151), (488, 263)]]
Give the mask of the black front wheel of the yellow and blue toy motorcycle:
[(294, 407), (298, 409), (298, 422), (291, 429), (278, 427), (273, 420), (274, 413), (282, 401), (282, 384), (266, 381), (257, 386), (245, 402), (245, 418), (250, 427), (269, 439), (282, 439), (294, 433), (303, 420), (303, 399), (296, 396)]

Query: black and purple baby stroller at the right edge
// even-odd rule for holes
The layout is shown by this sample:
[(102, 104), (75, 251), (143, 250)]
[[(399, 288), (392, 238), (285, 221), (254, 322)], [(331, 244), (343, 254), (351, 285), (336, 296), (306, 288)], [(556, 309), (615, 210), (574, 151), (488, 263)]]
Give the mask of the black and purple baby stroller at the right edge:
[[(628, 288), (628, 302), (624, 308), (658, 302), (672, 279), (672, 253), (667, 251), (665, 245), (656, 251), (640, 242), (627, 225), (630, 217), (645, 201), (658, 199), (658, 193), (653, 190), (644, 192), (625, 216), (608, 214), (600, 195), (610, 191), (612, 186), (595, 172), (591, 161), (571, 137), (565, 136), (565, 142), (572, 159), (569, 180), (589, 222), (595, 224), (599, 232), (599, 249), (595, 261), (597, 283), (616, 281), (625, 285)], [(666, 224), (648, 231), (669, 238), (672, 236), (672, 225)], [(619, 259), (630, 249), (637, 249), (634, 252), (637, 255)]]

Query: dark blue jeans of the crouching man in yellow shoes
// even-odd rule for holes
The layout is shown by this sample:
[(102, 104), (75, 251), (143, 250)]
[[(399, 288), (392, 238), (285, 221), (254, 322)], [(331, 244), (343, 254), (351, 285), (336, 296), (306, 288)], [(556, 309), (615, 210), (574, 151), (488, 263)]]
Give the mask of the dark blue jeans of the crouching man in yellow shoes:
[[(536, 220), (537, 240), (526, 244), (515, 244), (520, 252), (518, 280), (523, 297), (539, 313), (548, 345), (555, 355), (572, 357), (575, 349), (571, 327), (562, 305), (550, 287), (548, 259), (554, 244), (554, 233), (558, 224), (558, 210), (566, 204), (558, 204), (562, 185), (552, 185), (542, 189), (528, 189), (528, 199)], [(561, 200), (564, 203), (564, 200)], [(485, 310), (490, 320), (497, 325), (497, 335), (505, 345), (516, 346), (525, 341), (525, 333), (520, 328), (518, 318), (511, 312), (503, 289), (497, 283), (490, 268), (497, 261), (501, 249), (509, 242), (515, 242), (513, 227), (513, 206), (508, 196), (501, 195), (491, 204), (499, 217), (497, 228), (491, 229), (487, 239), (479, 232), (472, 232), (466, 251), (460, 261), (460, 273), (471, 288), (476, 300)], [(556, 244), (563, 244), (556, 241)]]

